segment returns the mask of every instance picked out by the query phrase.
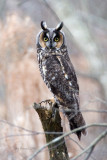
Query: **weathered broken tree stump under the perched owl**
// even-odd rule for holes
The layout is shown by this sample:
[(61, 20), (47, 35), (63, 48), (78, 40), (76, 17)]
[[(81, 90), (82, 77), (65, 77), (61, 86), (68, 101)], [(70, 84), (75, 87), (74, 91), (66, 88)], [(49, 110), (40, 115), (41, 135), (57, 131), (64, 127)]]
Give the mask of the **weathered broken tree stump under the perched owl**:
[[(59, 115), (59, 111), (55, 111), (55, 117), (53, 117), (53, 110), (52, 107), (42, 107), (36, 103), (34, 103), (34, 109), (39, 115), (39, 118), (41, 120), (44, 132), (63, 132), (63, 128), (61, 126), (61, 118)], [(55, 138), (58, 138), (61, 136), (61, 134), (46, 134), (46, 142), (50, 142), (54, 140)], [(50, 160), (69, 160), (67, 147), (65, 144), (64, 138), (60, 141), (57, 141), (55, 143), (52, 143), (48, 146), (49, 149), (49, 156)]]

